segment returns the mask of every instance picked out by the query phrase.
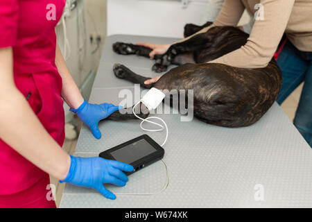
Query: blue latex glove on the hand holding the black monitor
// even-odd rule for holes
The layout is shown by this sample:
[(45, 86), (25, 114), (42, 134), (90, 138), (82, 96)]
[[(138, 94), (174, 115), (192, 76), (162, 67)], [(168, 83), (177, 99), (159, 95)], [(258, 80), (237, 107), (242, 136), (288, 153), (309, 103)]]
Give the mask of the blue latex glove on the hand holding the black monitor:
[(103, 183), (111, 183), (120, 187), (125, 186), (128, 177), (122, 171), (133, 171), (129, 164), (114, 160), (105, 160), (101, 157), (73, 157), (71, 156), (71, 167), (64, 180), (81, 187), (96, 189), (109, 199), (116, 199), (111, 191), (105, 189)]

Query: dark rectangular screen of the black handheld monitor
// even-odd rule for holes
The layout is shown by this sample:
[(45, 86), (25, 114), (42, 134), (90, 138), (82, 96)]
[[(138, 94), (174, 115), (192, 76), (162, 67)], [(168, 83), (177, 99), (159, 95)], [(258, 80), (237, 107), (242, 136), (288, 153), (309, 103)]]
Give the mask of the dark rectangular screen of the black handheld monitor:
[(115, 160), (130, 164), (136, 160), (141, 159), (151, 153), (154, 153), (156, 149), (150, 145), (145, 139), (140, 139), (133, 144), (119, 148), (116, 151), (110, 153)]

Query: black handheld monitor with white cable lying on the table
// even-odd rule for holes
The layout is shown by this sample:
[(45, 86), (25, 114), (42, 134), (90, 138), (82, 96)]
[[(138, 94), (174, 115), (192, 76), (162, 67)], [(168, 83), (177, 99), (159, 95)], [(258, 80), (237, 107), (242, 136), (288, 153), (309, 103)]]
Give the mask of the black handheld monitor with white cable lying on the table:
[[(124, 142), (118, 146), (110, 148), (107, 151), (100, 153), (100, 157), (108, 160), (117, 160), (132, 165), (135, 171), (143, 167), (162, 160), (164, 157), (164, 149), (159, 146), (152, 138), (144, 134), (128, 142)], [(125, 172), (130, 175), (133, 172)]]

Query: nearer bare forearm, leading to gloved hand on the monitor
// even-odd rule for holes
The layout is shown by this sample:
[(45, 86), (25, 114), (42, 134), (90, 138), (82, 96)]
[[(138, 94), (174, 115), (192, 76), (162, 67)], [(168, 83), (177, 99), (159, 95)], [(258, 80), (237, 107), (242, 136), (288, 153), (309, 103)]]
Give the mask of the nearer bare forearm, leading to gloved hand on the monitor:
[(0, 49), (0, 74), (0, 138), (46, 173), (64, 179), (70, 157), (46, 132), (15, 87), (12, 49)]

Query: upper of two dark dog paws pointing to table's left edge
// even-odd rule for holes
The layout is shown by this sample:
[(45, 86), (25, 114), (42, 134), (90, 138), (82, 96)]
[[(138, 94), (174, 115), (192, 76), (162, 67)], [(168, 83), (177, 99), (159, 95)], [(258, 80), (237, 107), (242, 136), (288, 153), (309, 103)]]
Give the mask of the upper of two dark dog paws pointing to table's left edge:
[(149, 54), (152, 49), (136, 44), (128, 44), (124, 42), (116, 42), (112, 45), (113, 51), (121, 55), (137, 55), (150, 58)]

